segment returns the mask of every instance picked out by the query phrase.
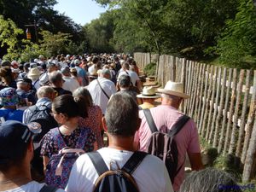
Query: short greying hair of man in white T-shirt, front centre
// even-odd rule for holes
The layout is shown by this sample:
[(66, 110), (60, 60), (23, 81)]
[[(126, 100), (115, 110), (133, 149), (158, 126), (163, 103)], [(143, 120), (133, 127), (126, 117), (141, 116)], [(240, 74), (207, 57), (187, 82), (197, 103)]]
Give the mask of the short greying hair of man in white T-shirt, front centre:
[(133, 137), (138, 126), (137, 103), (131, 95), (118, 92), (108, 102), (105, 119), (111, 135)]

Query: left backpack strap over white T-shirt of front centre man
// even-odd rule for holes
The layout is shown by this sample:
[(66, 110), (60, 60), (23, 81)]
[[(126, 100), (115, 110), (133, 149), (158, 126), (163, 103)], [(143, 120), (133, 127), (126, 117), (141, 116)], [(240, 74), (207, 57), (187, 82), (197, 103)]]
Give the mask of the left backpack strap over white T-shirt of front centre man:
[(108, 166), (106, 165), (102, 155), (99, 152), (94, 151), (87, 154), (99, 176), (101, 176), (104, 172), (108, 172)]

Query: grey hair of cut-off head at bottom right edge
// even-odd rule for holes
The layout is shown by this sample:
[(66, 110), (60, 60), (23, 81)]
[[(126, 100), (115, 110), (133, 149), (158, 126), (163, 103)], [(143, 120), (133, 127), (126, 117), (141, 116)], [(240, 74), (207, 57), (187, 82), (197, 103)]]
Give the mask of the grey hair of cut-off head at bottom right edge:
[(241, 192), (241, 187), (229, 173), (207, 168), (186, 177), (179, 192)]

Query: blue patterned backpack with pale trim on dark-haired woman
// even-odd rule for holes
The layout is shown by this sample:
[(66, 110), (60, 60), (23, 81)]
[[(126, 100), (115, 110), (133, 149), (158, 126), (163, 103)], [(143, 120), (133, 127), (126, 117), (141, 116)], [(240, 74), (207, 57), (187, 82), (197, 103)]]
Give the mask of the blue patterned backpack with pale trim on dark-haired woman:
[(53, 154), (49, 158), (49, 163), (46, 166), (45, 183), (50, 186), (65, 189), (68, 177), (73, 167), (74, 162), (78, 159), (80, 154), (84, 154), (86, 137), (88, 135), (87, 129), (81, 129), (81, 133), (76, 143), (76, 148), (68, 148), (67, 144), (61, 137), (59, 128), (50, 130), (53, 135), (55, 143), (58, 148), (61, 148), (58, 154)]

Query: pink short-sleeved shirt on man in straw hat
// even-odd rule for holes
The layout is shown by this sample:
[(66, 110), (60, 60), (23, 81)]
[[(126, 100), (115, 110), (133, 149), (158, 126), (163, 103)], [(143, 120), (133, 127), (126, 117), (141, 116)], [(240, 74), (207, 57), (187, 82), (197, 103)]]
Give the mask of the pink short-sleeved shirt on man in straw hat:
[[(183, 113), (177, 111), (176, 108), (172, 108), (167, 105), (160, 105), (155, 108), (150, 108), (152, 113), (154, 123), (156, 127), (163, 132), (170, 130), (172, 125), (177, 122), (177, 119), (183, 115)], [(136, 133), (135, 141), (140, 143), (140, 150), (145, 151), (148, 143), (148, 138), (151, 136), (151, 131), (149, 129), (148, 123), (144, 116), (143, 111), (139, 113), (142, 119), (141, 126)], [(198, 132), (193, 119), (189, 119), (183, 129), (177, 133), (177, 151), (178, 151), (178, 165), (177, 167), (183, 166), (180, 172), (174, 179), (173, 189), (177, 191), (183, 183), (184, 179), (184, 161), (186, 159), (186, 153), (200, 153), (200, 144)]]

